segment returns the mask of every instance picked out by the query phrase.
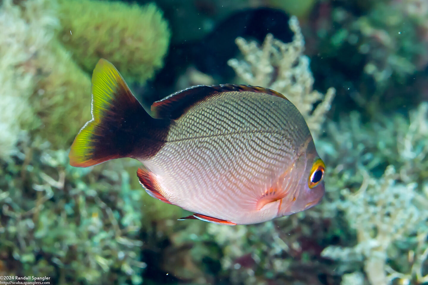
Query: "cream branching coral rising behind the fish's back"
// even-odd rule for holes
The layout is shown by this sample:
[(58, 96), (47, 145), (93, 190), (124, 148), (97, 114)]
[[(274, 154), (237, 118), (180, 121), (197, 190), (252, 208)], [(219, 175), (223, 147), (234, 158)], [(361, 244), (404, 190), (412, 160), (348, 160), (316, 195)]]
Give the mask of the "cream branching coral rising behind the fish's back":
[(270, 34), (262, 47), (254, 41), (237, 38), (236, 44), (244, 60), (230, 59), (228, 64), (244, 83), (284, 94), (302, 113), (312, 135), (318, 136), (335, 90), (330, 88), (324, 95), (312, 89), (314, 78), (309, 69), (309, 58), (303, 55), (304, 40), (297, 18), (291, 17), (289, 24), (294, 32), (291, 43), (284, 44)]

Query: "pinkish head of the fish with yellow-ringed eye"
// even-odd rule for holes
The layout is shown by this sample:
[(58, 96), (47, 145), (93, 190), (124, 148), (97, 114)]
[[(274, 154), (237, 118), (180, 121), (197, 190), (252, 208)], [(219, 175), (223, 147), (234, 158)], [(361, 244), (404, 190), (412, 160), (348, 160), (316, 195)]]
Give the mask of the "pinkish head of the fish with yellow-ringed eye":
[(325, 193), (325, 165), (313, 141), (300, 152), (288, 177), (288, 194), (282, 199), (278, 217), (297, 213), (318, 204)]

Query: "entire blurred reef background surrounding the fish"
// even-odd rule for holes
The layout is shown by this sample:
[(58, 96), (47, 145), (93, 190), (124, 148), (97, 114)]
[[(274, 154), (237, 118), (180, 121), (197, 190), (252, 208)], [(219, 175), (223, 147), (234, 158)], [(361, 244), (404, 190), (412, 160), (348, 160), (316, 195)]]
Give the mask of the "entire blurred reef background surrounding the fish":
[[(0, 3), (1, 276), (428, 284), (428, 1)], [(101, 57), (145, 106), (197, 84), (281, 92), (326, 162), (324, 200), (251, 226), (177, 221), (137, 161), (71, 167)]]

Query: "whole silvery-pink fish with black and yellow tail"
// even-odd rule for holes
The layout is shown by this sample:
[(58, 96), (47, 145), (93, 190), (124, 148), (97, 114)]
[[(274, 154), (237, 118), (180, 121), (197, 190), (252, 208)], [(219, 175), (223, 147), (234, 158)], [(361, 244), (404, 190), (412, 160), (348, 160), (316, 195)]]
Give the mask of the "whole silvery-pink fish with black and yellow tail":
[(194, 212), (181, 219), (253, 224), (308, 209), (324, 195), (325, 165), (297, 108), (276, 91), (198, 85), (150, 114), (107, 60), (92, 75), (92, 119), (70, 164), (131, 157), (147, 193)]

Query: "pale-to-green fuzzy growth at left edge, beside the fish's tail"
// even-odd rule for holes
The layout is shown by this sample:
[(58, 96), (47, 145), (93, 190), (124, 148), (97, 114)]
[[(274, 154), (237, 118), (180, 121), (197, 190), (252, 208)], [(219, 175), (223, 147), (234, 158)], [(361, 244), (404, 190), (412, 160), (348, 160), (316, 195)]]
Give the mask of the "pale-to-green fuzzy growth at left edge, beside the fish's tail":
[(5, 120), (0, 129), (5, 136), (0, 145), (5, 150), (0, 155), (16, 153), (21, 130), (66, 148), (91, 118), (91, 80), (56, 39), (56, 2), (7, 1), (2, 9), (0, 94), (5, 100), (0, 110)]

